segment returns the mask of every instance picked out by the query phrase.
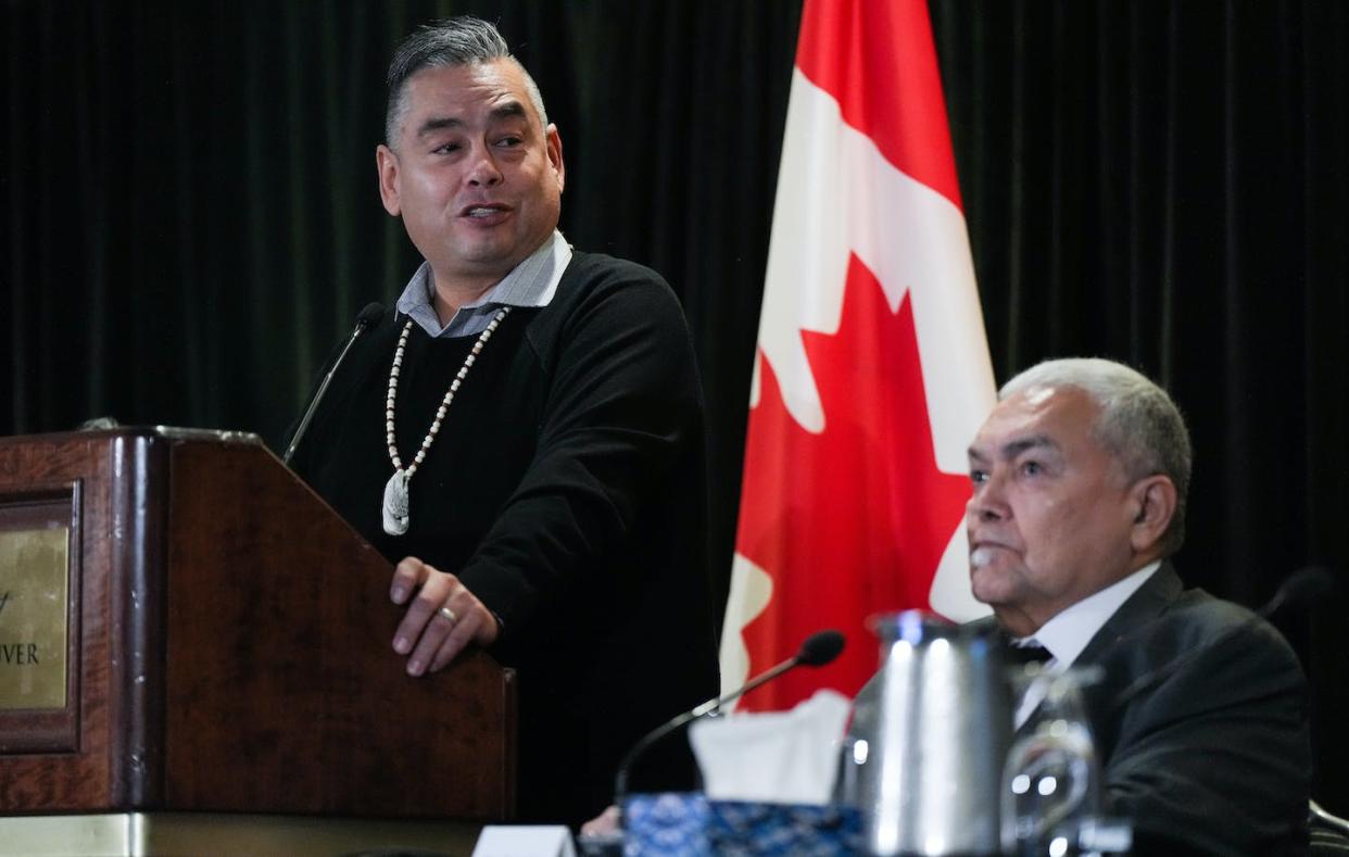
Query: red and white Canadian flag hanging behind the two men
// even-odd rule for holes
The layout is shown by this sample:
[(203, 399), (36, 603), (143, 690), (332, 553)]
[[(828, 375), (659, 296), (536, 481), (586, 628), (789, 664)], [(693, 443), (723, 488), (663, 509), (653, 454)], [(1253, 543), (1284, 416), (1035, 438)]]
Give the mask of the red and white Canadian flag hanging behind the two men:
[(807, 0), (750, 389), (722, 683), (849, 640), (743, 699), (847, 695), (869, 615), (970, 595), (966, 448), (994, 404), (927, 0)]

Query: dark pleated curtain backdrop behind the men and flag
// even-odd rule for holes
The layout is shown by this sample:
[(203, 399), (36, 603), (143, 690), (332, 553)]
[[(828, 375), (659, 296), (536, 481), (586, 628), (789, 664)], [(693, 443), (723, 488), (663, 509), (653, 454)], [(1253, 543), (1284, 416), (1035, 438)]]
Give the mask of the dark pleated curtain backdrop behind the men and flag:
[[(112, 414), (279, 444), (415, 265), (375, 188), (380, 80), (414, 23), (459, 12), (499, 20), (544, 88), (568, 238), (684, 301), (728, 568), (796, 1), (7, 0), (0, 433)], [(1160, 378), (1198, 449), (1190, 582), (1246, 605), (1306, 563), (1344, 583), (1349, 5), (932, 18), (998, 378), (1070, 354)], [(1340, 594), (1280, 621), (1341, 812), (1346, 614)]]

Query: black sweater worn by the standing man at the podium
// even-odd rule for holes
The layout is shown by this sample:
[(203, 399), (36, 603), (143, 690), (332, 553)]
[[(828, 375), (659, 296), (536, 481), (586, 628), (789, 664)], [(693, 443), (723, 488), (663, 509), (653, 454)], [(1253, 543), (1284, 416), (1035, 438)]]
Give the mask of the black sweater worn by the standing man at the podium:
[[(492, 653), (521, 682), (521, 818), (577, 823), (606, 806), (633, 741), (718, 690), (683, 313), (654, 271), (575, 254), (552, 302), (514, 309), (483, 348), (411, 479), (407, 533), (387, 536), (384, 395), (405, 321), (390, 313), (357, 340), (293, 463), (390, 561), (459, 575), (502, 618)], [(413, 325), (395, 418), (405, 467), (475, 340)], [(687, 749), (666, 748), (633, 783), (683, 788), (689, 775)]]

